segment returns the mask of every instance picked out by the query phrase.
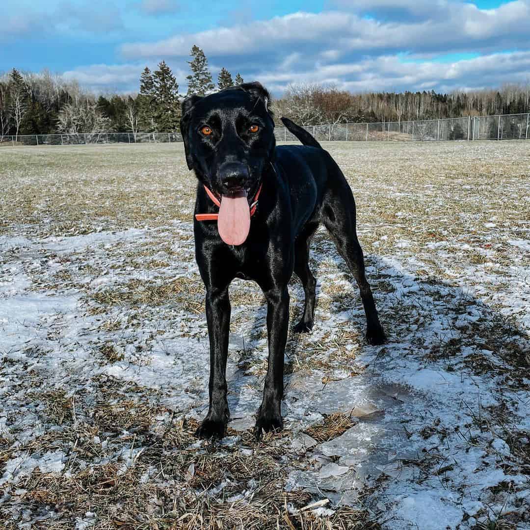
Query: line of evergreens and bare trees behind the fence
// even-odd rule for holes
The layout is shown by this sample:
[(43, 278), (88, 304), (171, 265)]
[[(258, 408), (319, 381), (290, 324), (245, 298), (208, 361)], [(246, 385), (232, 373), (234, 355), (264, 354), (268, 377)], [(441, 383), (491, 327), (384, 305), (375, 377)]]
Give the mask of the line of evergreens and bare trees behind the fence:
[[(206, 95), (243, 83), (240, 74), (233, 79), (222, 68), (216, 86), (204, 51), (193, 46), (190, 56), (187, 94), (179, 93), (179, 84), (163, 60), (153, 72), (145, 67), (138, 93), (128, 95), (95, 96), (77, 81), (47, 70), (23, 73), (13, 68), (0, 75), (0, 136), (178, 131), (180, 102), (186, 95)], [(288, 86), (273, 102), (273, 110), (277, 118), (287, 116), (306, 126), (526, 113), (530, 84), (449, 94), (434, 90), (353, 94), (334, 86), (298, 84)]]

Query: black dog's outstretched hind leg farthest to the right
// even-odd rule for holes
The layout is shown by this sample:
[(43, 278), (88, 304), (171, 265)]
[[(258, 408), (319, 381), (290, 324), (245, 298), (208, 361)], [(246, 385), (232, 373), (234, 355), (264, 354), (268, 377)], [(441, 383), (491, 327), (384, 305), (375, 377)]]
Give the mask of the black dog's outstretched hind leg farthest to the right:
[(383, 344), (386, 337), (366, 280), (363, 250), (357, 239), (354, 196), (338, 167), (334, 173), (324, 197), (322, 220), (359, 286), (366, 314), (366, 339), (372, 345)]

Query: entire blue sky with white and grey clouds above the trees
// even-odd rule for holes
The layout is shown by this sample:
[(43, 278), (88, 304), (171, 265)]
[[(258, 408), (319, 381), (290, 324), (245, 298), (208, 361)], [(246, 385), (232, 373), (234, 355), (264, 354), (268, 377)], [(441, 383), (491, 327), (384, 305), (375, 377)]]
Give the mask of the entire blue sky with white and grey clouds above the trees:
[(289, 83), (359, 91), (530, 82), (530, 0), (2, 0), (0, 72), (138, 90), (164, 59), (185, 92), (193, 44), (279, 95)]

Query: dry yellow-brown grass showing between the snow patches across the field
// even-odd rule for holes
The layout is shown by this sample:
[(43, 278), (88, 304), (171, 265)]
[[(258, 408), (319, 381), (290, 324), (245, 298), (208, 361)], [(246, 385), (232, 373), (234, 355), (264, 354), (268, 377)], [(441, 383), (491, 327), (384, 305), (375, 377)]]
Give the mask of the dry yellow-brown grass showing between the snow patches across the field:
[[(392, 340), (421, 329), (426, 317), (435, 313), (436, 304), (446, 307), (448, 313), (465, 314), (469, 298), (457, 295), (454, 289), (440, 294), (443, 280), (456, 285), (471, 277), (472, 285), (480, 288), (484, 282), (480, 274), (494, 271), (502, 283), (489, 286), (481, 296), (486, 299), (496, 290), (511, 288), (510, 267), (523, 263), (523, 258), (506, 241), (527, 238), (528, 229), (527, 205), (520, 201), (530, 170), (526, 144), (330, 143), (325, 147), (354, 190), (369, 279), (376, 296), (387, 297), (383, 319), (392, 322)], [(179, 271), (180, 266), (193, 261), (193, 244), (189, 224), (175, 221), (191, 220), (195, 197), (195, 180), (185, 169), (181, 145), (132, 149), (20, 147), (4, 151), (0, 234), (70, 236), (146, 226), (160, 230), (144, 234), (140, 240), (75, 249), (68, 260), (59, 252), (42, 251), (34, 260), (42, 262), (39, 270), (31, 268), (33, 257), (24, 264), (23, 272), (31, 279), (32, 289), (81, 293), (83, 311), (93, 318), (90, 351), (100, 372), (130, 360), (123, 344), (133, 343), (145, 322), (152, 325), (152, 335), (140, 345), (142, 348), (148, 350), (155, 336), (163, 339), (167, 330), (156, 328), (163, 311), (176, 308), (184, 312), (183, 325), (186, 319), (204, 312), (200, 277), (197, 273), (180, 276)], [(486, 226), (489, 223), (495, 226)], [(322, 283), (316, 321), (325, 321), (330, 313), (351, 311), (354, 325), (337, 326), (319, 335), (290, 334), (287, 353), (291, 363), (286, 372), (318, 374), (326, 385), (363, 373), (364, 368), (354, 361), (364, 345), (364, 316), (358, 314), (357, 288), (348, 287), (351, 275), (336, 260), (328, 235), (317, 233), (312, 249), (312, 268), (337, 280)], [(398, 251), (403, 261), (410, 258), (411, 267), (416, 264), (414, 260), (421, 262), (411, 281), (420, 286), (422, 294), (428, 294), (432, 307), (418, 308), (413, 299), (398, 297), (382, 261)], [(382, 259), (374, 260), (371, 254)], [(19, 262), (20, 249), (10, 249), (2, 259), (5, 263)], [(52, 272), (47, 268), (49, 263), (54, 263)], [(105, 275), (109, 271), (112, 281), (101, 287), (98, 280), (108, 278)], [(298, 284), (296, 289), (299, 296)], [(448, 371), (455, 370), (460, 359), (458, 369), (504, 378), (507, 387), (528, 390), (528, 350), (516, 322), (502, 317), (494, 300), (491, 311), (481, 308), (487, 318), (461, 329), (460, 338), (413, 339), (411, 355), (417, 356), (419, 364), (443, 361)], [(259, 352), (253, 348), (267, 332), (264, 326), (248, 329), (249, 314), (263, 309), (263, 296), (259, 289), (238, 282), (231, 301), (233, 308), (244, 307), (238, 314), (233, 311), (231, 330), (242, 333), (243, 329), (252, 341), (241, 354), (239, 367), (245, 375), (263, 376), (266, 361), (263, 356), (254, 358)], [(299, 300), (298, 305), (291, 306), (291, 323), (301, 314), (301, 303)], [(206, 340), (204, 326), (200, 333)], [(55, 341), (54, 345), (59, 344), (60, 334), (59, 322), (52, 322), (49, 340)], [(183, 329), (179, 336), (192, 335)], [(492, 354), (475, 352), (461, 359), (462, 348), (476, 343)], [(145, 350), (140, 346), (138, 360), (130, 363), (133, 368), (149, 362), (148, 356), (142, 358)], [(32, 359), (46, 356), (45, 351), (27, 353)], [(70, 357), (75, 358), (75, 350), (64, 354), (65, 364)], [(3, 363), (6, 370), (17, 366), (27, 368), (10, 359)], [(9, 491), (0, 487), (0, 497), (6, 496), (0, 505), (5, 528), (19, 527), (24, 517), (50, 513), (53, 518), (36, 520), (32, 528), (70, 529), (87, 513), (97, 514), (92, 526), (97, 530), (379, 528), (376, 516), (361, 505), (358, 509), (335, 509), (330, 517), (317, 517), (312, 510), (303, 510), (316, 500), (314, 496), (302, 490), (284, 490), (289, 470), (294, 465), (297, 469), (308, 466), (289, 448), (293, 432), (269, 434), (258, 443), (251, 429), (228, 429), (233, 445), (197, 444), (193, 438), (197, 421), (161, 405), (170, 402), (164, 401), (168, 398), (164, 391), (105, 375), (83, 379), (82, 369), (78, 365), (76, 369), (80, 375), (69, 374), (64, 388), (50, 390), (37, 372), (31, 381), (13, 386), (22, 392), (24, 385), (33, 385), (23, 394), (25, 404), (45, 428), (21, 444), (16, 443), (16, 430), (15, 437), (0, 438), (0, 476), (11, 458), (54, 451), (67, 455), (67, 473), (42, 473), (37, 468)], [(512, 456), (502, 464), (506, 472), (527, 474), (528, 433), (511, 427), (510, 407), (505, 403), (504, 408), (473, 408), (469, 426), (454, 436), (466, 447), (475, 448), (480, 446), (481, 434), (494, 431), (510, 447)], [(14, 421), (11, 416), (8, 420)], [(347, 414), (337, 413), (305, 432), (323, 443), (352, 426)], [(451, 433), (449, 427), (431, 421), (406, 424), (404, 429), (433, 447), (446, 444)], [(419, 483), (433, 476), (447, 483), (452, 464), (440, 454), (433, 450), (405, 464), (417, 469)], [(507, 491), (511, 487), (509, 482), (505, 484)], [(27, 510), (26, 515), (23, 510)], [(509, 528), (510, 524), (515, 524), (510, 516), (491, 517), (484, 527)]]

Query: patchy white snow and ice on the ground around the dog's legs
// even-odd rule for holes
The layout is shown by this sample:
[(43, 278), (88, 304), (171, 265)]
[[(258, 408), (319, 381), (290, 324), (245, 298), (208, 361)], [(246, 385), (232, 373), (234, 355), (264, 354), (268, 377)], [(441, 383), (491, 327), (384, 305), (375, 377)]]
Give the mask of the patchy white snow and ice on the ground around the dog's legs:
[[(7, 397), (0, 412), (4, 436), (13, 437), (17, 433), (21, 440), (31, 439), (45, 428), (34, 414), (36, 410), (24, 409), (23, 405), (20, 413), (28, 414), (25, 419), (12, 419), (13, 408), (21, 407), (14, 389), (20, 388), (21, 381), (31, 373), (46, 378), (44, 388), (62, 388), (72, 396), (79, 389), (90, 387), (94, 376), (112, 376), (124, 383), (134, 382), (162, 392), (158, 402), (175, 413), (196, 418), (204, 415), (208, 377), (205, 367), (209, 363), (204, 314), (189, 314), (171, 301), (158, 307), (145, 305), (140, 306), (142, 320), (133, 327), (112, 332), (98, 326), (101, 318), (97, 314), (86, 312), (83, 290), (99, 293), (109, 286), (119, 289), (135, 278), (152, 279), (141, 268), (125, 268), (110, 275), (112, 260), (117, 259), (113, 254), (116, 245), (136, 248), (161, 236), (165, 237), (160, 231), (129, 230), (76, 236), (75, 241), (58, 237), (10, 241), (3, 237), (6, 248), (16, 245), (24, 256), (3, 267), (0, 284), (3, 297), (0, 351), (4, 360), (22, 363), (16, 369), (2, 370), (0, 392)], [(408, 248), (401, 243), (398, 246)], [(53, 253), (56, 258), (41, 259), (41, 275), (52, 276), (57, 269), (71, 271), (78, 260), (89, 262), (99, 272), (92, 279), (80, 278), (81, 286), (85, 287), (36, 291), (31, 281), (33, 257), (46, 253)], [(313, 254), (313, 259), (318, 262), (319, 256)], [(188, 268), (187, 263), (174, 263), (161, 274), (167, 279), (178, 278), (190, 269), (193, 267)], [(347, 369), (339, 364), (334, 370), (334, 380), (328, 383), (322, 383), (323, 374), (318, 370), (286, 376), (283, 413), (286, 427), (295, 432), (292, 447), (313, 462), (310, 470), (290, 472), (287, 489), (304, 488), (315, 494), (326, 491), (333, 505), (355, 506), (357, 493), (364, 485), (374, 484), (385, 476), (383, 500), (375, 502), (372, 508), (378, 513), (384, 505), (384, 514), (379, 517), (385, 528), (416, 525), (439, 528), (440, 521), (448, 527), (458, 524), (466, 527), (465, 517), (472, 519), (491, 501), (487, 488), (509, 482), (523, 494), (526, 484), (524, 476), (506, 474), (499, 467), (500, 462), (512, 457), (506, 442), (489, 430), (476, 427), (476, 419), (481, 411), (485, 413), (484, 408), (508, 398), (506, 389), (502, 395), (499, 393), (497, 377), (474, 374), (465, 366), (466, 358), (478, 354), (495, 358), (480, 341), (464, 340), (465, 331), (490, 319), (491, 310), (470, 294), (472, 289), (418, 281), (408, 272), (407, 261), (398, 257), (379, 260), (369, 257), (368, 277), (377, 273), (391, 286), (389, 294), (377, 294), (390, 340), (382, 348), (358, 349), (355, 366), (366, 367), (364, 372), (348, 376)], [(319, 290), (340, 286), (355, 300), (356, 288), (338, 271), (333, 260), (328, 259), (320, 266), (317, 277)], [(236, 293), (248, 290), (243, 282), (235, 287)], [(250, 289), (259, 296), (257, 288)], [(303, 299), (300, 286), (294, 284), (291, 292), (293, 304), (300, 304)], [(320, 294), (321, 299), (333, 299), (325, 292)], [(393, 326), (393, 308), (398, 307), (400, 312), (407, 312), (407, 319)], [(132, 311), (127, 306), (117, 307), (107, 316), (125, 322)], [(260, 403), (262, 375), (253, 373), (252, 368), (243, 371), (238, 356), (244, 354), (244, 343), (245, 355), (250, 354), (261, 363), (266, 359), (267, 344), (261, 334), (264, 307), (254, 304), (249, 313), (248, 307), (234, 305), (233, 321), (237, 325), (231, 335), (227, 370), (231, 426), (246, 429), (252, 425), (252, 414)], [(346, 310), (331, 313), (317, 306), (316, 325), (304, 339), (306, 345), (336, 333), (345, 321), (352, 321), (359, 332), (364, 329), (358, 301)], [(94, 363), (94, 343), (109, 340), (121, 358), (111, 364)], [(457, 341), (460, 347), (450, 356), (436, 354), (422, 359), (422, 351), (441, 351), (451, 341)], [(352, 351), (352, 345), (348, 348)], [(36, 351), (38, 355), (34, 354)], [(288, 361), (296, 361), (296, 350), (288, 348), (287, 355), (291, 357)], [(517, 391), (512, 395), (518, 402), (516, 417), (524, 423), (528, 418), (528, 400)], [(302, 432), (323, 414), (337, 411), (351, 413), (355, 419), (355, 425), (344, 434), (319, 444)], [(101, 444), (101, 440), (96, 441)], [(237, 437), (233, 443), (238, 443)], [(111, 460), (121, 462), (121, 472), (125, 472), (141, 451), (125, 446)], [(6, 463), (1, 482), (14, 485), (35, 467), (41, 472), (59, 473), (64, 468), (64, 459), (61, 452), (17, 456)], [(422, 466), (427, 465), (426, 460), (430, 468), (424, 473)], [(437, 470), (444, 468), (443, 476), (438, 475)], [(144, 480), (149, 480), (149, 475)], [(433, 513), (437, 514), (436, 519), (432, 518)], [(94, 520), (89, 516), (78, 519), (76, 527), (87, 528)]]

